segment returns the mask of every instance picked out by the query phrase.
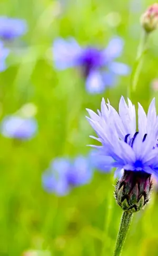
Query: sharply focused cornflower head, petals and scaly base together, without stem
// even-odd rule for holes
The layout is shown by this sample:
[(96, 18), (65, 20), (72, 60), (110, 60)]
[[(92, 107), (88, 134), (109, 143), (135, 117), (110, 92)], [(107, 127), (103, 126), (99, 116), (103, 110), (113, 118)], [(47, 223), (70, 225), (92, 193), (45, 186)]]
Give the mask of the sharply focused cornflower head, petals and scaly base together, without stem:
[(158, 175), (158, 119), (155, 99), (152, 100), (147, 115), (139, 103), (138, 131), (136, 130), (135, 107), (123, 97), (119, 111), (102, 100), (98, 115), (87, 109), (87, 118), (98, 137), (90, 136), (102, 144), (93, 146), (104, 156), (112, 157), (108, 163), (116, 167), (116, 174), (124, 169), (124, 174), (116, 185), (116, 199), (124, 211), (139, 211), (149, 201), (151, 175)]

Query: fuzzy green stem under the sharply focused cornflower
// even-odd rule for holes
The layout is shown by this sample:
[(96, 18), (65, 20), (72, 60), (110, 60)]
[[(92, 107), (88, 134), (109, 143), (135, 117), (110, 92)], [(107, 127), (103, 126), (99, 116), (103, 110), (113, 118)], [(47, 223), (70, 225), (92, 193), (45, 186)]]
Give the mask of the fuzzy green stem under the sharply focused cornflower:
[(124, 241), (126, 239), (127, 231), (129, 230), (130, 222), (132, 220), (132, 212), (123, 212), (121, 217), (120, 228), (117, 235), (117, 240), (115, 244), (114, 256), (120, 256)]

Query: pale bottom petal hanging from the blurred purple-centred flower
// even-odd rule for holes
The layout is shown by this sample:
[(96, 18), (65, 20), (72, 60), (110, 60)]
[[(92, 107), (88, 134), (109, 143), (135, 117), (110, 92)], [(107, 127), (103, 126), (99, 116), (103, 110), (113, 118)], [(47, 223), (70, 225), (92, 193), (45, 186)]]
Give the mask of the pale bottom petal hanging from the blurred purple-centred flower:
[(105, 83), (100, 71), (93, 70), (86, 79), (86, 90), (89, 93), (102, 93), (105, 89)]

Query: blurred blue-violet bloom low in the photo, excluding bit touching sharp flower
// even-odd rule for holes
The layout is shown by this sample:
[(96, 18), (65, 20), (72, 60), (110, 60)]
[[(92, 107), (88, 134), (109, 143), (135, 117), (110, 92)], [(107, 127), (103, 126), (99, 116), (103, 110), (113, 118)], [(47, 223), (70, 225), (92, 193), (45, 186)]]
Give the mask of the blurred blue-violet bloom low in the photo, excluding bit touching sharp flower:
[(74, 186), (91, 181), (93, 169), (86, 157), (78, 156), (73, 161), (56, 158), (42, 176), (43, 187), (47, 192), (63, 196)]

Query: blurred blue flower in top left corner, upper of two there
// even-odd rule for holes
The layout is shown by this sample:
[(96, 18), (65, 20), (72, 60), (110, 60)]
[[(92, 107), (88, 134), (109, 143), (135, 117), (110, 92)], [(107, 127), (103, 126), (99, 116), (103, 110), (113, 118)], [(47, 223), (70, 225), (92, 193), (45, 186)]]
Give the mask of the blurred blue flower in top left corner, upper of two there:
[(27, 32), (27, 23), (18, 18), (0, 17), (0, 37), (3, 40), (14, 40)]

